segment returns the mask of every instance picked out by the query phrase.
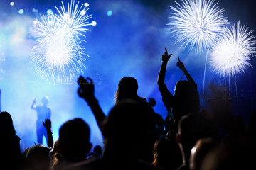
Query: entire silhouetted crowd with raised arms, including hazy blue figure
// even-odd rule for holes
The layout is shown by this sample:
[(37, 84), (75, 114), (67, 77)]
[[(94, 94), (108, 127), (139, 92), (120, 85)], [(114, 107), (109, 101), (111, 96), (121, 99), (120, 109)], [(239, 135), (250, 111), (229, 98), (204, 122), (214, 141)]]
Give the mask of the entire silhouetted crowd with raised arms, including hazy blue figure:
[[(38, 135), (37, 144), (23, 152), (11, 114), (0, 113), (0, 169), (256, 169), (256, 111), (245, 125), (242, 116), (221, 108), (223, 103), (212, 103), (212, 109), (202, 110), (197, 84), (179, 57), (176, 66), (187, 80), (176, 82), (171, 94), (164, 82), (170, 57), (165, 49), (156, 82), (166, 118), (154, 111), (154, 98), (146, 100), (137, 94), (139, 85), (134, 77), (119, 80), (114, 106), (106, 114), (95, 96), (92, 79), (80, 76), (78, 96), (95, 116), (104, 146), (92, 146), (90, 126), (82, 118), (63, 123), (54, 142), (48, 101), (43, 100), (41, 107), (48, 115), (37, 122), (38, 128), (44, 128), (43, 133)], [(40, 113), (35, 101), (31, 108)], [(42, 145), (43, 135), (47, 146)]]

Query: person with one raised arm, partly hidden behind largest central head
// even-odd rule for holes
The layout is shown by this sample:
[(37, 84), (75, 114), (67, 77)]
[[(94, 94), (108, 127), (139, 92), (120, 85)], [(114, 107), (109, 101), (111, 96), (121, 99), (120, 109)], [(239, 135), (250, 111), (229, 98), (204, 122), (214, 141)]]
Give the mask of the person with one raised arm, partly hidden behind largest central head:
[[(84, 77), (80, 76), (78, 78), (78, 84), (78, 95), (81, 98), (84, 98), (87, 104), (90, 106), (92, 113), (97, 121), (97, 125), (102, 132), (102, 123), (105, 118), (107, 118), (107, 116), (103, 113), (97, 99), (95, 98), (95, 87), (93, 81), (89, 77), (85, 79)], [(148, 115), (144, 117), (144, 121), (147, 122), (146, 125), (147, 128), (151, 130), (151, 134), (155, 135), (155, 138), (157, 138), (156, 125), (154, 123), (155, 112), (153, 108), (149, 105), (149, 103), (146, 102), (146, 98), (141, 98), (137, 95), (137, 89), (138, 84), (136, 79), (134, 79), (133, 77), (123, 77), (118, 83), (118, 88), (115, 95), (116, 104), (119, 103), (119, 101), (125, 99), (132, 99), (134, 101), (137, 101), (139, 105), (143, 105), (147, 109), (148, 113)]]

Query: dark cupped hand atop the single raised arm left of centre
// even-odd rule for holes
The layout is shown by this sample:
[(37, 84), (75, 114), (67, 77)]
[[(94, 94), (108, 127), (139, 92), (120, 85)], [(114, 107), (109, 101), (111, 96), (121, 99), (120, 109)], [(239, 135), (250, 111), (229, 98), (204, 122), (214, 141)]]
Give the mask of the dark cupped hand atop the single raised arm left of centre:
[(85, 101), (89, 101), (94, 97), (95, 87), (92, 79), (86, 77), (86, 79), (82, 76), (78, 78), (78, 96), (81, 98), (85, 98)]

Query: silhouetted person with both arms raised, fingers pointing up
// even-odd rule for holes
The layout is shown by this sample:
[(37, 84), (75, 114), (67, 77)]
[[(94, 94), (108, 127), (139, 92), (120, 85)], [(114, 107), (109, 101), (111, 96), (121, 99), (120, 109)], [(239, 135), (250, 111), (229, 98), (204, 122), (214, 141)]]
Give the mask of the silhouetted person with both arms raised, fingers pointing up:
[[(166, 49), (165, 49), (166, 50)], [(178, 120), (183, 116), (191, 112), (198, 112), (200, 103), (199, 95), (197, 91), (197, 84), (193, 81), (190, 74), (184, 67), (183, 62), (178, 57), (178, 62), (176, 65), (183, 71), (186, 75), (188, 81), (178, 81), (174, 89), (174, 95), (167, 89), (166, 84), (164, 84), (166, 66), (171, 55), (168, 52), (162, 55), (162, 64), (159, 72), (159, 77), (157, 84), (159, 85), (159, 91), (164, 102), (164, 106), (168, 111), (166, 117), (166, 128), (168, 129), (168, 137), (174, 137), (177, 132)]]

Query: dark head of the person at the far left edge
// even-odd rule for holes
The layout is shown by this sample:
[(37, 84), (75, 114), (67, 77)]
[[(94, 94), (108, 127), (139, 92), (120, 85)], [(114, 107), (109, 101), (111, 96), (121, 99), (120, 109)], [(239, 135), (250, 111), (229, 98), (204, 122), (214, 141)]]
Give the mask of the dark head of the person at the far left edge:
[(10, 135), (15, 134), (11, 115), (6, 111), (0, 113), (0, 132)]

